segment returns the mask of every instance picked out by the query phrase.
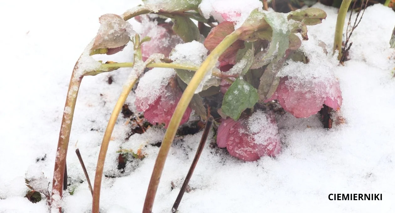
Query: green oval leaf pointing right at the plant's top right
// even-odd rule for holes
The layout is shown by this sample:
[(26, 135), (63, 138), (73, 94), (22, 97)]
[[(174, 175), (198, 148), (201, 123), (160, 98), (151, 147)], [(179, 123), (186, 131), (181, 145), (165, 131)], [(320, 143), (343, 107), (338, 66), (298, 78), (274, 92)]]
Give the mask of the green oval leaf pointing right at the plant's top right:
[(292, 11), (288, 14), (288, 20), (304, 22), (306, 25), (316, 25), (326, 18), (326, 13), (322, 9), (309, 7), (303, 10)]

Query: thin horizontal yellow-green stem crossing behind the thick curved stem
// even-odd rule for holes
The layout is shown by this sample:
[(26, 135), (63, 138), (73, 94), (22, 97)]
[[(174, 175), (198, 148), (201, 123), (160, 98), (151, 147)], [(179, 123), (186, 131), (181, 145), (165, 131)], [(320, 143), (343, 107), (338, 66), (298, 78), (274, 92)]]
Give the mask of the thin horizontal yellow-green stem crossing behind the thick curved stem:
[[(133, 67), (133, 63), (112, 63), (112, 64), (102, 64), (103, 68), (120, 68), (120, 67)], [(199, 67), (196, 66), (188, 66), (188, 65), (182, 65), (182, 64), (174, 64), (174, 63), (150, 63), (147, 65), (147, 67), (162, 67), (162, 68), (173, 68), (173, 69), (185, 69), (185, 70), (190, 70), (190, 71), (197, 71)], [(224, 76), (219, 72), (213, 72), (211, 75), (218, 77), (218, 78), (223, 78), (229, 83), (233, 83), (233, 80), (230, 78), (224, 78)]]

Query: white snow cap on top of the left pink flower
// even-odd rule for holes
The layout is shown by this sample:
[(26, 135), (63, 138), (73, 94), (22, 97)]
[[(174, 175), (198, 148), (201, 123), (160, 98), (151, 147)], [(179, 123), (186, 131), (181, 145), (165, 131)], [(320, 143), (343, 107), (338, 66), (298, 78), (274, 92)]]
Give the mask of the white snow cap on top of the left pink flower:
[(137, 110), (143, 112), (158, 100), (171, 78), (176, 75), (174, 69), (153, 68), (140, 78), (135, 90)]

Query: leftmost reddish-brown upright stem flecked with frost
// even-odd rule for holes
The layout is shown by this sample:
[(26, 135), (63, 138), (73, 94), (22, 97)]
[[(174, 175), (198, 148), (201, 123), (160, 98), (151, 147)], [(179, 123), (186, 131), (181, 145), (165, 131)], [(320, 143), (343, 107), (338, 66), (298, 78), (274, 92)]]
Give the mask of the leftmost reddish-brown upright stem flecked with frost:
[[(64, 169), (66, 166), (66, 155), (70, 139), (71, 123), (73, 121), (74, 108), (77, 101), (79, 86), (81, 85), (81, 80), (83, 78), (82, 76), (75, 76), (75, 70), (77, 69), (77, 66), (78, 62), (75, 64), (73, 73), (71, 74), (66, 104), (64, 105), (62, 124), (60, 126), (58, 148), (56, 149), (55, 157), (55, 168), (53, 172), (51, 204), (58, 202), (62, 198), (63, 194)], [(60, 212), (61, 207), (58, 208)]]

